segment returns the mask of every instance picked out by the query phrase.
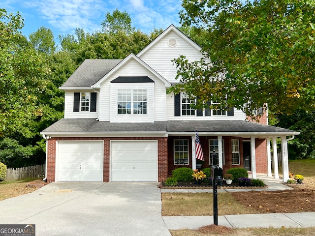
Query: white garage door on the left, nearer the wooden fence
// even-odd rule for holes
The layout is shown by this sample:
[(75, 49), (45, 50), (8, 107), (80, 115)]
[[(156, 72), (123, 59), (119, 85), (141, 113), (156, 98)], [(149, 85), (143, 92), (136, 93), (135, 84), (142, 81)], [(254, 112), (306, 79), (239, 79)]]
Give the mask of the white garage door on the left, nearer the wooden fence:
[(59, 141), (57, 181), (103, 181), (103, 141)]

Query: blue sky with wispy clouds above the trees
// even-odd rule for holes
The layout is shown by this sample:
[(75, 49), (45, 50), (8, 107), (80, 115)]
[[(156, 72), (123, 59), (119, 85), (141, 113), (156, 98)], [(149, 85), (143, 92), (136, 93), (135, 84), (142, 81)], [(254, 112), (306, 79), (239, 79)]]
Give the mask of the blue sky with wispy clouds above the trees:
[(105, 14), (116, 8), (126, 11), (132, 26), (145, 33), (154, 27), (179, 26), (181, 3), (182, 0), (1, 0), (0, 8), (8, 13), (20, 12), (25, 19), (25, 36), (44, 26), (58, 38), (59, 34), (74, 34), (76, 28), (90, 33), (101, 30)]

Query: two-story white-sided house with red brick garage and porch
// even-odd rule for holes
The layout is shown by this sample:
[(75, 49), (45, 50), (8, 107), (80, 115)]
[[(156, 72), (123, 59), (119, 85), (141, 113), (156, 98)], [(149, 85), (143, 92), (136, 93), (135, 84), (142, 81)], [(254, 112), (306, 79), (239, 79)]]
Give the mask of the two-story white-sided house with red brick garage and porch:
[[(178, 167), (196, 169), (196, 130), (202, 168), (213, 163), (215, 150), (224, 172), (244, 167), (253, 177), (271, 175), (270, 139), (276, 145), (281, 137), (288, 176), (287, 137), (298, 132), (269, 126), (266, 116), (260, 123), (246, 121), (235, 108), (194, 110), (184, 92), (166, 94), (178, 83), (171, 60), (198, 60), (200, 50), (171, 25), (138, 55), (86, 59), (60, 88), (64, 118), (41, 132), (47, 181), (165, 180)], [(278, 170), (277, 159), (273, 163)]]

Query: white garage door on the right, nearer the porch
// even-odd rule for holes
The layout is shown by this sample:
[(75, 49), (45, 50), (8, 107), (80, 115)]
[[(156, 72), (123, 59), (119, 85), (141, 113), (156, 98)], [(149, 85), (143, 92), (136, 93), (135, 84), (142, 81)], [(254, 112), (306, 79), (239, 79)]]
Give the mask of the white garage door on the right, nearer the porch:
[(111, 181), (158, 181), (158, 141), (111, 141)]

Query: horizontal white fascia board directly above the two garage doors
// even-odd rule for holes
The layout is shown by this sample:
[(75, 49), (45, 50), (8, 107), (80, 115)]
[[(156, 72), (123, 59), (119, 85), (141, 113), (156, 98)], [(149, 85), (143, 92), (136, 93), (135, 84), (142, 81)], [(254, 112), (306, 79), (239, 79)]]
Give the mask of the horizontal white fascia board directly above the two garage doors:
[(167, 137), (165, 132), (40, 132), (52, 138), (59, 137)]

